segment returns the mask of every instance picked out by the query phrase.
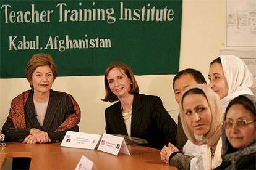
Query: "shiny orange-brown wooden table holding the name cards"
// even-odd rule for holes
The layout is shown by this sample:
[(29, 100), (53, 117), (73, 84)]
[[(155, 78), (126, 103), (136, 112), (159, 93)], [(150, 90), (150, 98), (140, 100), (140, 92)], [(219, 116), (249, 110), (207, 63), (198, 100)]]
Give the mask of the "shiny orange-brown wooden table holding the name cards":
[(54, 144), (22, 144), (7, 142), (0, 148), (0, 169), (6, 158), (32, 158), (30, 169), (75, 169), (82, 155), (95, 163), (97, 169), (176, 169), (160, 160), (154, 148), (128, 145), (131, 155), (111, 155), (99, 150), (60, 147)]

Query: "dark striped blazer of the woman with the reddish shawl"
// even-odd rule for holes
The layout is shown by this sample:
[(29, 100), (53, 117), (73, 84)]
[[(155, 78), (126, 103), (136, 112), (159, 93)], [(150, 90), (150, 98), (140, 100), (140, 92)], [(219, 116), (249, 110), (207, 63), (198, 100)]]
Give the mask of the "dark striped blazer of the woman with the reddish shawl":
[[(12, 119), (7, 118), (2, 127), (2, 133), (6, 135), (6, 141), (23, 141), (30, 134), (30, 129), (36, 128), (47, 132), (52, 142), (59, 142), (64, 138), (66, 131), (54, 131), (73, 113), (75, 111), (70, 97), (61, 92), (51, 90), (43, 126), (40, 126), (36, 119), (32, 90), (25, 104), (26, 128), (15, 129)], [(75, 126), (69, 131), (79, 131), (79, 127)]]

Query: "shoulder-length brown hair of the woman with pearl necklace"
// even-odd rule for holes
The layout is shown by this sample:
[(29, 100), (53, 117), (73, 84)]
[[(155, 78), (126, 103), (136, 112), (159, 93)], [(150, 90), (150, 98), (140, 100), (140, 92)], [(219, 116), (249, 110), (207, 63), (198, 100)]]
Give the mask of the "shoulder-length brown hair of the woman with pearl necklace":
[(114, 95), (113, 92), (111, 91), (108, 84), (108, 79), (107, 79), (109, 71), (112, 70), (113, 68), (121, 68), (122, 70), (124, 70), (128, 78), (130, 79), (131, 81), (130, 91), (129, 91), (130, 94), (139, 93), (139, 86), (137, 84), (137, 81), (135, 80), (134, 73), (130, 69), (129, 65), (123, 62), (112, 62), (108, 65), (104, 73), (104, 83), (105, 83), (106, 94), (105, 94), (105, 98), (101, 99), (102, 101), (114, 102), (116, 100), (119, 100), (118, 97)]

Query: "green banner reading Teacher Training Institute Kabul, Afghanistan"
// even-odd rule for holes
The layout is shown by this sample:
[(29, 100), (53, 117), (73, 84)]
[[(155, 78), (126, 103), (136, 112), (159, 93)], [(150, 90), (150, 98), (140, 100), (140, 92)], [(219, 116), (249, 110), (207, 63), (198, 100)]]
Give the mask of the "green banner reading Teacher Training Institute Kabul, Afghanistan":
[(59, 76), (103, 75), (113, 61), (135, 75), (179, 70), (182, 1), (1, 1), (1, 78), (24, 77), (36, 53)]

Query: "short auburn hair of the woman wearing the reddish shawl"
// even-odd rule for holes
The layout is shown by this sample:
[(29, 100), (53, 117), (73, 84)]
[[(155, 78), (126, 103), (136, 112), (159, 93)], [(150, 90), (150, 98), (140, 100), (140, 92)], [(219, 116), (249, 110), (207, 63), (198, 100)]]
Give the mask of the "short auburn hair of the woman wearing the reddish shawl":
[(30, 83), (30, 87), (33, 87), (32, 75), (35, 72), (36, 68), (45, 65), (48, 65), (49, 68), (51, 68), (51, 71), (53, 71), (53, 80), (56, 79), (57, 67), (51, 55), (44, 53), (34, 54), (32, 58), (28, 61), (25, 68), (25, 76)]

